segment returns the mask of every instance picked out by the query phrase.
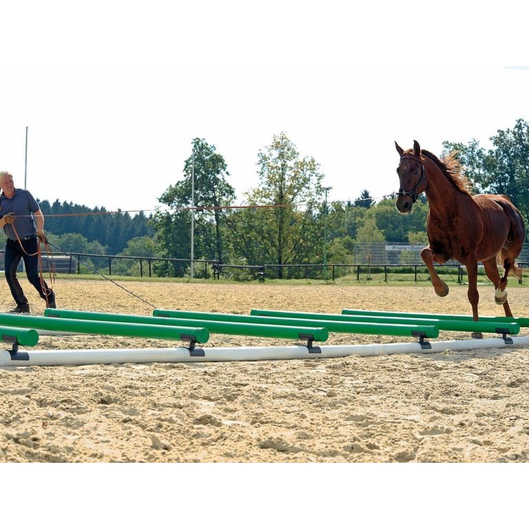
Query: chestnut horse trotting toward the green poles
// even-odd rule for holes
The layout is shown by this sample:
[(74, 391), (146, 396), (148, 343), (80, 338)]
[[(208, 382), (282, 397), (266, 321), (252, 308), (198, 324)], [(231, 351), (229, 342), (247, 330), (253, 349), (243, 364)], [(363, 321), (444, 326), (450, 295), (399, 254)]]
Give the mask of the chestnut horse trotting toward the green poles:
[[(413, 149), (406, 151), (397, 142), (395, 147), (400, 155), (397, 209), (409, 213), (423, 191), (430, 205), (426, 220), (429, 244), (422, 250), (421, 258), (428, 267), (435, 293), (447, 295), (448, 285), (437, 276), (433, 262), (443, 264), (455, 259), (464, 264), (468, 301), (477, 321), (477, 262), (481, 261), (496, 287), (495, 301), (503, 304), (506, 316), (512, 317), (505, 291), (507, 276), (511, 273), (521, 277), (515, 259), (526, 235), (518, 209), (504, 195), (471, 194), (470, 183), (455, 154), (439, 160), (435, 154), (421, 150), (417, 141), (413, 142)], [(498, 263), (504, 267), (501, 278)]]

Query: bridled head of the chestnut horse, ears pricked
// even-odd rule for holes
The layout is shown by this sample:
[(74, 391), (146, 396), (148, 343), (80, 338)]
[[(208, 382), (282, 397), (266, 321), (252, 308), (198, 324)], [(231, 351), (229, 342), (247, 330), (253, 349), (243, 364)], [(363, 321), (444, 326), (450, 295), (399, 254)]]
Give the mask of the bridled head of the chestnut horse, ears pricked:
[(400, 155), (399, 175), (400, 187), (397, 193), (397, 209), (401, 213), (409, 213), (413, 204), (426, 189), (426, 174), (424, 174), (424, 163), (421, 158), (421, 146), (413, 141), (412, 149), (404, 151), (395, 141), (395, 147)]

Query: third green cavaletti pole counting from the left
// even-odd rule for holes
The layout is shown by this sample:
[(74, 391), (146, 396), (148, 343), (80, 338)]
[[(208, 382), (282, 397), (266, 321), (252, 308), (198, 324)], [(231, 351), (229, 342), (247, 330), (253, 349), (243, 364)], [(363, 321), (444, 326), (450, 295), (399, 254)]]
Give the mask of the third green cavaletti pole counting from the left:
[[(154, 318), (154, 316), (139, 316), (132, 314), (112, 314), (107, 312), (67, 311), (64, 309), (46, 309), (46, 320), (59, 319), (68, 321), (68, 318), (77, 320), (92, 320), (98, 322), (127, 322), (129, 324), (150, 324), (152, 326), (177, 326), (177, 325), (202, 325), (210, 333), (231, 334), (240, 336), (260, 336), (262, 338), (284, 338), (287, 340), (315, 340), (325, 342), (329, 338), (329, 331), (322, 327), (312, 326), (311, 322), (304, 320), (303, 325), (284, 326), (271, 324), (253, 324), (236, 322), (214, 322), (206, 320)], [(55, 318), (49, 318), (54, 316)], [(25, 316), (24, 316), (25, 318)], [(0, 320), (1, 321), (1, 320)]]

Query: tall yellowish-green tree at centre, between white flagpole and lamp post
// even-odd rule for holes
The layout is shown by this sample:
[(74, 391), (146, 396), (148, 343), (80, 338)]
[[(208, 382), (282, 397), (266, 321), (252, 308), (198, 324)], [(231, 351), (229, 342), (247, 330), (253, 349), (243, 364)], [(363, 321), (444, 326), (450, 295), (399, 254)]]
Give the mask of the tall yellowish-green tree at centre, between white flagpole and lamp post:
[[(318, 163), (300, 158), (281, 133), (259, 152), (258, 167), (259, 186), (247, 194), (247, 201), (259, 207), (231, 219), (234, 248), (248, 260), (260, 256), (265, 263), (320, 260), (324, 191)], [(282, 277), (282, 269), (278, 275)]]

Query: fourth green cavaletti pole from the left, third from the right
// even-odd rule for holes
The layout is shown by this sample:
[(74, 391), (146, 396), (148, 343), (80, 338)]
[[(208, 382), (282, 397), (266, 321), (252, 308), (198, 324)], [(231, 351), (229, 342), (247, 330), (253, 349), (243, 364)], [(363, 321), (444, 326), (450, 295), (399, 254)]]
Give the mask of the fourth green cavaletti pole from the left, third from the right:
[[(221, 314), (217, 312), (170, 311), (165, 309), (154, 309), (152, 313), (155, 317), (204, 320), (205, 326), (208, 326), (207, 322), (209, 321), (293, 326), (307, 325), (307, 320), (301, 318), (267, 318), (266, 316)], [(437, 338), (439, 336), (439, 329), (433, 325), (333, 322), (331, 320), (311, 320), (311, 323), (324, 326), (331, 333), (380, 334), (391, 336), (415, 336), (422, 334), (425, 338)]]

